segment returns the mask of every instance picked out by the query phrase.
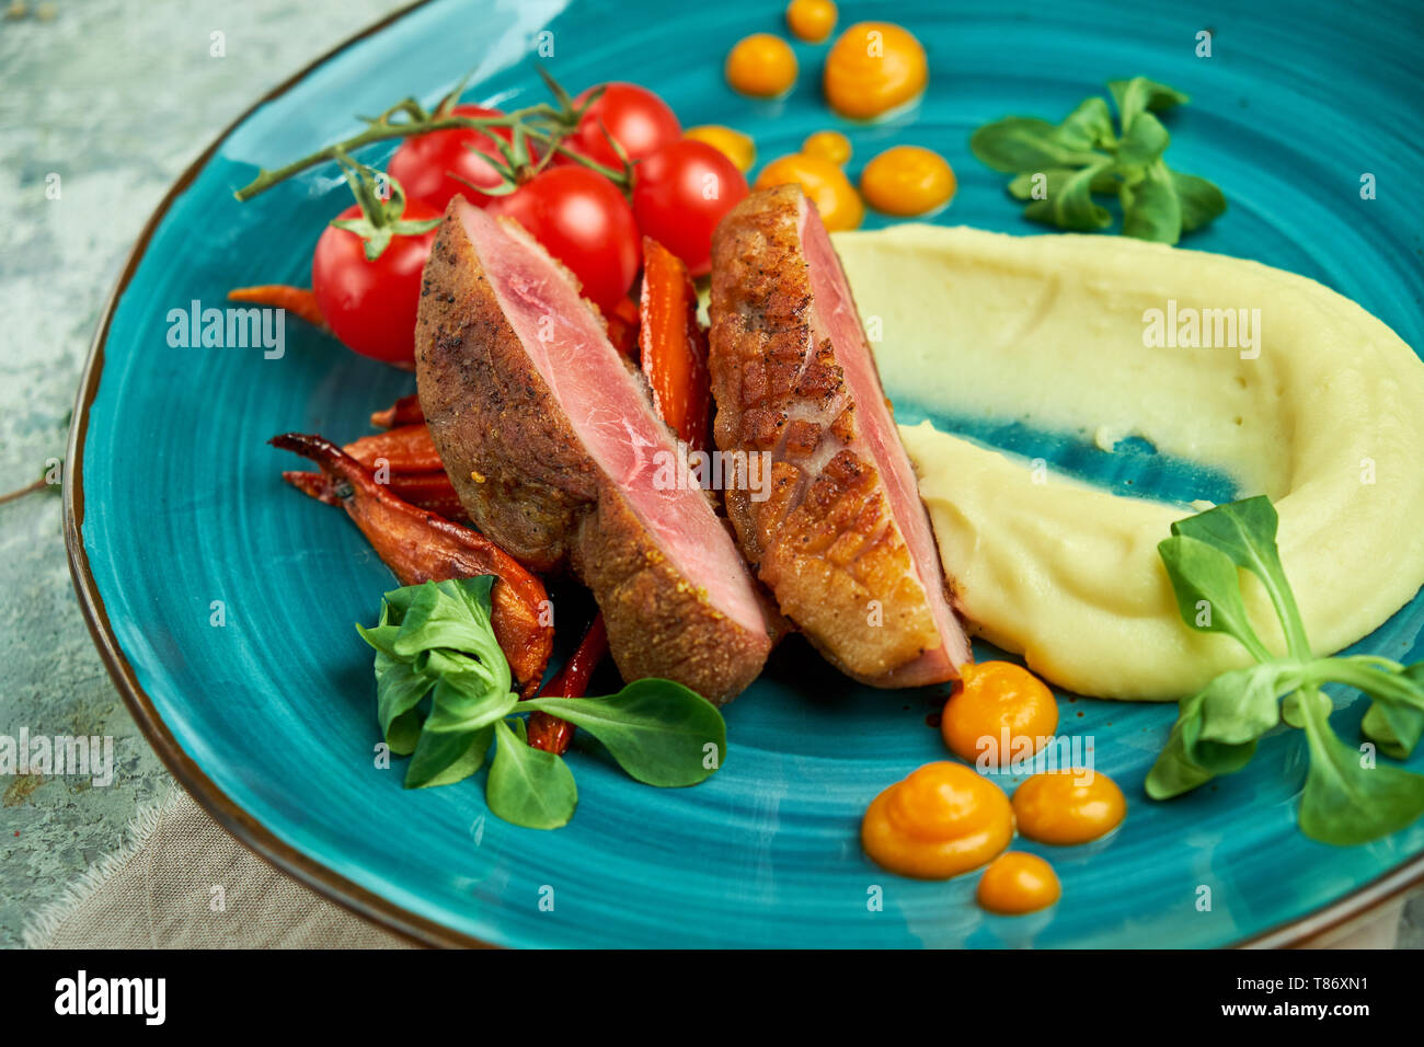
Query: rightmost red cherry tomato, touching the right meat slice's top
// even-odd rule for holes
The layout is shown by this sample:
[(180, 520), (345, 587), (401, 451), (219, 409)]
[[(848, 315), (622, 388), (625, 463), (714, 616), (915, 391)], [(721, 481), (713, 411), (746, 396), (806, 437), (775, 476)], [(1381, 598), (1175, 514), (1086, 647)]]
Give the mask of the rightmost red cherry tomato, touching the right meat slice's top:
[(746, 195), (746, 178), (706, 142), (684, 138), (634, 168), (638, 228), (682, 259), (692, 276), (712, 271), (712, 231)]

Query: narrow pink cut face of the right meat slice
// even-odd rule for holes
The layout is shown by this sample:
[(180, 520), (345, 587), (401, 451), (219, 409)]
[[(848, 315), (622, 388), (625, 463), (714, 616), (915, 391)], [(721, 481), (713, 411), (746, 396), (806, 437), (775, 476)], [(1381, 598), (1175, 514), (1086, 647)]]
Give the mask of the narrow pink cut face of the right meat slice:
[(930, 528), (930, 516), (924, 510), (924, 503), (920, 501), (914, 467), (910, 464), (904, 444), (900, 443), (894, 419), (886, 406), (880, 375), (876, 372), (870, 346), (866, 345), (866, 335), (860, 326), (860, 316), (856, 313), (856, 302), (850, 293), (846, 274), (840, 268), (840, 259), (830, 244), (826, 226), (822, 225), (816, 209), (809, 207), (805, 198), (802, 199), (800, 236), (806, 265), (810, 271), (812, 296), (816, 303), (813, 322), (816, 340), (830, 338), (836, 349), (836, 359), (844, 372), (846, 383), (850, 386), (850, 395), (856, 403), (857, 442), (863, 444), (856, 450), (867, 453), (876, 463), (890, 499), (890, 511), (910, 547), (916, 577), (924, 587), (936, 628), (940, 640), (944, 641), (938, 651), (924, 654), (923, 664), (907, 667), (906, 671), (934, 677), (946, 658), (957, 670), (970, 660), (970, 644), (944, 595), (944, 575), (940, 570), (934, 531)]

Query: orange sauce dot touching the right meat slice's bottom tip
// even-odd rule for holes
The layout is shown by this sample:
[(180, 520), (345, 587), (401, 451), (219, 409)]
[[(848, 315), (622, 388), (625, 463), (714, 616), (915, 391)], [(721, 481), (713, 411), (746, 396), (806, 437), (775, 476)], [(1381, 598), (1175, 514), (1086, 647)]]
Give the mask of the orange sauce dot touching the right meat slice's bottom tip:
[(1054, 692), (1028, 670), (1007, 661), (964, 665), (944, 704), (940, 734), (950, 752), (1004, 766), (1038, 752), (1058, 728)]

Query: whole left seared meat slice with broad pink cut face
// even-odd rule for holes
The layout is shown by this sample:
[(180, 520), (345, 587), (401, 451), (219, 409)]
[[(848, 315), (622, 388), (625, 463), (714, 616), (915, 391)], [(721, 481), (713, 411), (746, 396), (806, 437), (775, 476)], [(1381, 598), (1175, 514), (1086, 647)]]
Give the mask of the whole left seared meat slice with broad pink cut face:
[(625, 679), (723, 702), (756, 678), (770, 640), (755, 583), (638, 377), (572, 275), (461, 197), (426, 264), (416, 379), (476, 527), (582, 578)]

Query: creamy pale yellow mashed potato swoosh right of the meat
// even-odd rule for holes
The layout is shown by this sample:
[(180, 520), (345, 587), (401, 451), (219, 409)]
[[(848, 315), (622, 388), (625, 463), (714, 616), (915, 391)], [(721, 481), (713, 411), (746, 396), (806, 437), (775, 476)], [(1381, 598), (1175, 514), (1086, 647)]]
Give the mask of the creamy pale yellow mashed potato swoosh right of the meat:
[[(1111, 447), (1132, 434), (1280, 514), (1319, 654), (1424, 581), (1424, 363), (1329, 288), (1118, 236), (900, 225), (837, 234), (887, 393)], [(940, 432), (901, 437), (980, 635), (1089, 695), (1176, 699), (1247, 664), (1188, 630), (1156, 544), (1190, 507), (1128, 499)], [(1283, 650), (1243, 575), (1262, 638)]]

